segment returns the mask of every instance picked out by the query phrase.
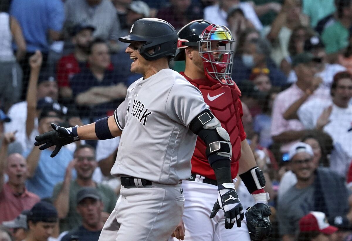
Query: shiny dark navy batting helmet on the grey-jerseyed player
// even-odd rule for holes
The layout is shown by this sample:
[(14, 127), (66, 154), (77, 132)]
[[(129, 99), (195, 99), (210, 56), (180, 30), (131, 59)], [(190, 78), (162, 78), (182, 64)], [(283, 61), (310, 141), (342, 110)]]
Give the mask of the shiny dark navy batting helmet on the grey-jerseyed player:
[[(139, 50), (146, 60), (156, 60), (165, 56), (175, 57), (177, 32), (168, 22), (157, 18), (139, 19), (131, 27), (130, 35), (119, 38), (121, 42), (145, 42)], [(153, 49), (154, 51), (149, 52)]]

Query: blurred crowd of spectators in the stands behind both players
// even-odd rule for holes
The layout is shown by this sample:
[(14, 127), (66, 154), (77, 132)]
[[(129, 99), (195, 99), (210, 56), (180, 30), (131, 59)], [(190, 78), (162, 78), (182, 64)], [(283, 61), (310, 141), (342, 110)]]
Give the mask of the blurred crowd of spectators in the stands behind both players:
[(352, 0), (1, 0), (0, 238), (98, 240), (119, 195), (119, 138), (74, 142), (54, 158), (34, 138), (50, 123), (112, 115), (141, 77), (118, 38), (146, 17), (177, 31), (196, 19), (231, 29), (270, 240), (352, 240)]

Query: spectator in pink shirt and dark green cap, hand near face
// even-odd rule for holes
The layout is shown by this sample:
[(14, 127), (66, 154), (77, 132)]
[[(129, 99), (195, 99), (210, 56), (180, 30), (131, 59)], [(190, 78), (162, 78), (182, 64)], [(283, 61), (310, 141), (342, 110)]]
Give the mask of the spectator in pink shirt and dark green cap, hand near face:
[(282, 143), (281, 153), (287, 152), (292, 144), (306, 134), (299, 120), (284, 116), (285, 112), (290, 113), (288, 108), (294, 108), (292, 104), (297, 103), (297, 100), (303, 103), (315, 97), (326, 100), (330, 98), (329, 92), (321, 87), (321, 79), (314, 76), (316, 69), (312, 54), (296, 55), (293, 66), (297, 82), (277, 95), (272, 109), (271, 136), (275, 142)]

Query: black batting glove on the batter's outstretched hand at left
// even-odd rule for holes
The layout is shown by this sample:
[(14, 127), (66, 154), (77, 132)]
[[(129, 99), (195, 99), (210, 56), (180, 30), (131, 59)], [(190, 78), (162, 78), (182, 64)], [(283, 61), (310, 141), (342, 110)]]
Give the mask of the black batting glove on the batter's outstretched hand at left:
[(50, 155), (51, 157), (56, 156), (56, 154), (59, 153), (61, 147), (64, 145), (79, 140), (78, 136), (72, 133), (72, 127), (65, 128), (57, 126), (54, 123), (51, 123), (51, 127), (54, 130), (36, 136), (36, 142), (34, 143), (34, 146), (40, 146), (44, 144), (43, 146), (39, 147), (39, 150), (45, 150), (51, 146), (56, 146)]

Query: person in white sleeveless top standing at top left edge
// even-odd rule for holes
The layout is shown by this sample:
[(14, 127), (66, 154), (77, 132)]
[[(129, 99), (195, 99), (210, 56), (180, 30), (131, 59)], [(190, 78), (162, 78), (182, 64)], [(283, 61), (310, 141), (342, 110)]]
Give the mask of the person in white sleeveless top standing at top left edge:
[[(20, 97), (22, 70), (17, 61), (26, 53), (26, 42), (21, 27), (17, 20), (8, 14), (9, 7), (9, 1), (0, 1), (0, 102), (5, 111)], [(18, 46), (16, 55), (12, 49), (13, 40)]]

